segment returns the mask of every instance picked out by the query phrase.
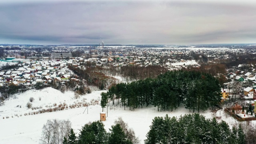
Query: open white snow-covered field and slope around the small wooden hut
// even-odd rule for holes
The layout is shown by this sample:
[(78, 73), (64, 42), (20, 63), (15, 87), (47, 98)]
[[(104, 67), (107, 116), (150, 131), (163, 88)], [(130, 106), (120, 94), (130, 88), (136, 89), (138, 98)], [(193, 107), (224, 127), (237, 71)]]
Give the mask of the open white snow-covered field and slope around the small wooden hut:
[[(6, 101), (4, 106), (0, 106), (0, 143), (1, 144), (38, 144), (40, 143), (41, 131), (44, 124), (48, 119), (59, 119), (59, 120), (70, 120), (72, 123), (72, 128), (74, 131), (79, 133), (79, 129), (88, 122), (93, 122), (100, 120), (100, 112), (102, 108), (100, 105), (90, 105), (84, 112), (86, 107), (72, 108), (67, 110), (61, 110), (56, 112), (47, 112), (42, 114), (35, 114), (29, 116), (14, 116), (14, 114), (24, 114), (31, 111), (25, 107), (25, 104), (29, 101), (30, 97), (34, 97), (35, 100), (32, 102), (33, 106), (50, 106), (54, 103), (63, 103), (67, 105), (73, 104), (74, 102), (86, 101), (90, 103), (91, 101), (99, 100), (100, 93), (105, 91), (93, 91), (91, 94), (86, 94), (78, 99), (74, 99), (74, 94), (72, 92), (66, 92), (62, 94), (58, 90), (53, 88), (46, 88), (43, 90), (30, 90), (23, 94), (19, 94)], [(41, 97), (41, 100), (39, 100)], [(16, 107), (21, 105), (22, 108)], [(83, 114), (84, 112), (84, 114)], [(104, 109), (106, 112), (106, 108)], [(122, 117), (124, 122), (128, 123), (128, 126), (134, 129), (136, 136), (139, 137), (141, 143), (144, 143), (146, 139), (146, 133), (150, 130), (152, 119), (155, 116), (169, 116), (179, 117), (184, 114), (192, 114), (189, 110), (184, 107), (179, 107), (173, 112), (158, 112), (157, 108), (150, 106), (136, 109), (135, 111), (130, 111), (129, 108), (124, 110), (124, 107), (108, 107), (108, 117), (105, 124), (105, 128), (108, 131), (111, 125), (114, 124), (114, 120), (118, 117)], [(206, 116), (206, 118), (212, 118), (217, 116), (219, 121), (225, 120), (230, 126), (236, 123), (234, 118), (229, 117), (224, 114), (223, 110), (216, 112), (216, 114), (210, 112), (210, 110), (200, 113)], [(9, 116), (9, 118), (2, 118)], [(13, 118), (11, 116), (14, 116)]]

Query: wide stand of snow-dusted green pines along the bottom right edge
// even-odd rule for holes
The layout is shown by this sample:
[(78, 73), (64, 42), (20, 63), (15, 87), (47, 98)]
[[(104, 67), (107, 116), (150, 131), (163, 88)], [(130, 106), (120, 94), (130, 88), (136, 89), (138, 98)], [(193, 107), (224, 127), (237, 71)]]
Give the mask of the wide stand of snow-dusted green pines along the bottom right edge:
[(155, 117), (146, 137), (145, 144), (246, 144), (240, 125), (230, 130), (226, 122), (200, 114)]

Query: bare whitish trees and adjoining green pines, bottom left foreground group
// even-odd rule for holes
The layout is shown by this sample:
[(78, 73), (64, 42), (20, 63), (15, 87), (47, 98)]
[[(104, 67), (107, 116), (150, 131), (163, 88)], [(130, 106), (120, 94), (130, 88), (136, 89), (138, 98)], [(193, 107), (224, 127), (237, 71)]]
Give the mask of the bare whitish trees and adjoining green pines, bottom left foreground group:
[(89, 122), (82, 126), (78, 136), (71, 128), (70, 121), (48, 120), (42, 128), (42, 144), (139, 144), (134, 130), (128, 128), (122, 118), (106, 132), (101, 121)]

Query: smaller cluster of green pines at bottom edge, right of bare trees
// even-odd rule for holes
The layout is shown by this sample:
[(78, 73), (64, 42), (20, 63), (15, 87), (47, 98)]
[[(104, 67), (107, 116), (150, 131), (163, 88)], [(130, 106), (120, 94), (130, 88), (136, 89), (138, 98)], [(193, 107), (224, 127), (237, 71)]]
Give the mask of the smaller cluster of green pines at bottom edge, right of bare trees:
[(127, 124), (119, 118), (106, 132), (104, 124), (100, 121), (85, 124), (78, 136), (73, 129), (68, 136), (64, 137), (63, 144), (138, 144), (134, 131), (127, 127)]

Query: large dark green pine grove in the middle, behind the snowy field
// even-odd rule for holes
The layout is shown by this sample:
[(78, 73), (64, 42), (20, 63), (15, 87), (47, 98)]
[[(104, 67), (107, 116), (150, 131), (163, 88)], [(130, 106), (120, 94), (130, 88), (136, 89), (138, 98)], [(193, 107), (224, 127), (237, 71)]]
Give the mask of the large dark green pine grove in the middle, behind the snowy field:
[(119, 83), (101, 94), (101, 106), (129, 107), (130, 110), (154, 105), (158, 111), (174, 110), (181, 104), (195, 111), (204, 111), (221, 100), (220, 85), (210, 74), (196, 71), (169, 71), (157, 78), (146, 78), (131, 83)]

